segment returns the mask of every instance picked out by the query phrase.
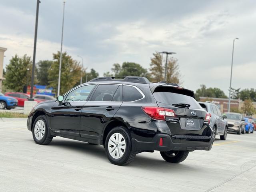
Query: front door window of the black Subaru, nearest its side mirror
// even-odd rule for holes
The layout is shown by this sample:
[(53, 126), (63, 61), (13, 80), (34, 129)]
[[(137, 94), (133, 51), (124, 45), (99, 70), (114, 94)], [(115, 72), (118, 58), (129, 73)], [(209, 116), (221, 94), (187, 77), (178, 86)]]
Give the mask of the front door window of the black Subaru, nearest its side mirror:
[(94, 87), (95, 84), (79, 87), (68, 93), (65, 101), (86, 101)]

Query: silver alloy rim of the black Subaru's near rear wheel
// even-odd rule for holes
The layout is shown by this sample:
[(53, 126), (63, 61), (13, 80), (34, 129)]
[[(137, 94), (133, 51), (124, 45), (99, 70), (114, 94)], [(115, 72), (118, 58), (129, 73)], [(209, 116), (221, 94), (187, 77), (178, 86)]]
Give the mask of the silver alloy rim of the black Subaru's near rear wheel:
[(124, 155), (126, 142), (120, 133), (114, 133), (108, 140), (108, 152), (114, 159), (119, 159)]

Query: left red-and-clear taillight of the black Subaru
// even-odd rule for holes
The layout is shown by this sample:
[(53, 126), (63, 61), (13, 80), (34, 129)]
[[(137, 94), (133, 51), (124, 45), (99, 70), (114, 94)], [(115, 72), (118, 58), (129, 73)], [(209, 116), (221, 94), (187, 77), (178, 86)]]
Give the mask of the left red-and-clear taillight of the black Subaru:
[(163, 120), (165, 117), (176, 117), (174, 110), (162, 107), (141, 107), (142, 110), (152, 119)]

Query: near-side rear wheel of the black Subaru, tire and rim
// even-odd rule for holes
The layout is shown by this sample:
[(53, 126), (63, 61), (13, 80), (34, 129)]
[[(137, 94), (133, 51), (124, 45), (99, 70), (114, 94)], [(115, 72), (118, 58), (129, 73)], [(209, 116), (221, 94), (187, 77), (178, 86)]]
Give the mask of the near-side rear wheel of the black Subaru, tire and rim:
[(136, 156), (136, 153), (132, 152), (130, 134), (121, 126), (110, 130), (104, 146), (108, 160), (115, 165), (127, 165)]

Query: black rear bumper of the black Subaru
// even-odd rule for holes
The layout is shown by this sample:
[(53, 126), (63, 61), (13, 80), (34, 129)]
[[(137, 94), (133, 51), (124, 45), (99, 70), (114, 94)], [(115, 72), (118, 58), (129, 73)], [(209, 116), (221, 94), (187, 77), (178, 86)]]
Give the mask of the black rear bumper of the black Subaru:
[[(163, 146), (159, 146), (160, 138), (163, 138)], [(182, 142), (173, 142), (173, 140)], [(211, 150), (213, 138), (210, 136), (186, 136), (186, 135), (168, 135), (156, 134), (150, 142), (142, 142), (132, 139), (132, 151), (194, 151)]]

